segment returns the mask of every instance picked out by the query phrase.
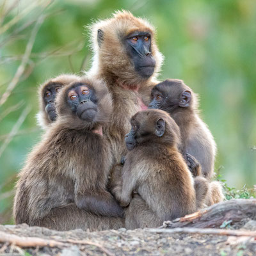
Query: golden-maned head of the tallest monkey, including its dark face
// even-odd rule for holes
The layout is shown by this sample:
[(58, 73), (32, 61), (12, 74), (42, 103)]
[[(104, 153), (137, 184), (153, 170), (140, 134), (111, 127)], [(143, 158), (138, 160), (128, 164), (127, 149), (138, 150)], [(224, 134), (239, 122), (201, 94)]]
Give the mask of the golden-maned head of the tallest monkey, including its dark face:
[(163, 56), (157, 49), (154, 28), (145, 19), (116, 12), (112, 19), (95, 23), (92, 34), (92, 70), (111, 74), (120, 84), (147, 81), (161, 67)]

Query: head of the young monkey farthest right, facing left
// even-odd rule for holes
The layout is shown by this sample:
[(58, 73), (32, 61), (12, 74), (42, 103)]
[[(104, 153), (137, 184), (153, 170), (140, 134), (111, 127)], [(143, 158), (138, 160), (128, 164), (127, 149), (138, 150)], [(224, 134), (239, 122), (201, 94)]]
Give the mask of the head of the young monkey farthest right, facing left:
[(157, 84), (151, 97), (149, 109), (162, 109), (170, 114), (176, 110), (196, 109), (197, 106), (195, 93), (179, 79), (167, 79)]

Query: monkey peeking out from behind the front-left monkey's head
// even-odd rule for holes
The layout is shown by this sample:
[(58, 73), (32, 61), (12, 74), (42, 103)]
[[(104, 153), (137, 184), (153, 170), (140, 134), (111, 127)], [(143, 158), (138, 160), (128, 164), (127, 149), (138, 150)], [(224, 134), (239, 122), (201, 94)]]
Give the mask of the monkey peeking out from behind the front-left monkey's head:
[(62, 74), (47, 80), (38, 89), (39, 112), (36, 114), (38, 125), (46, 129), (57, 118), (55, 99), (60, 89), (72, 82), (78, 81), (79, 77), (73, 74)]

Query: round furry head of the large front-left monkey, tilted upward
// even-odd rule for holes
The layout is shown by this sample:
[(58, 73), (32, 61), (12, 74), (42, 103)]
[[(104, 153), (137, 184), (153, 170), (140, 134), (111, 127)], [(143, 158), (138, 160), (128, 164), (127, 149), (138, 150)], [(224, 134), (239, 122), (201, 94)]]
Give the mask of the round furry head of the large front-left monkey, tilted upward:
[(103, 82), (83, 77), (58, 93), (56, 109), (61, 124), (90, 130), (109, 121), (112, 99)]

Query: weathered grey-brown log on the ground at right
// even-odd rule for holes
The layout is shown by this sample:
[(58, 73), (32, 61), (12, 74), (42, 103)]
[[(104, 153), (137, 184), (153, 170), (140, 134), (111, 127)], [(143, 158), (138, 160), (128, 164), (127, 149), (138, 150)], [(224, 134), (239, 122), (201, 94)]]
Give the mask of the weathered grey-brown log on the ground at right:
[(162, 227), (218, 228), (224, 221), (236, 223), (246, 218), (256, 220), (256, 199), (233, 199), (214, 204), (182, 218), (165, 221)]

